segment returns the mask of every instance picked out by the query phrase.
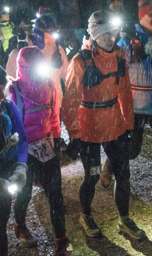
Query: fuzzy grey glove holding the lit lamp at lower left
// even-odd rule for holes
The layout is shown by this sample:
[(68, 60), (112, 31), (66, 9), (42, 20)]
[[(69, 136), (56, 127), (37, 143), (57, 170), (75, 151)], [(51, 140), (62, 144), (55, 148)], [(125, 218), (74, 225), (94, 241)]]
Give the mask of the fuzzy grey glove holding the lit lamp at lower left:
[(26, 183), (27, 165), (25, 163), (17, 162), (12, 167), (13, 175), (9, 178), (10, 183), (16, 183), (18, 191), (21, 190)]

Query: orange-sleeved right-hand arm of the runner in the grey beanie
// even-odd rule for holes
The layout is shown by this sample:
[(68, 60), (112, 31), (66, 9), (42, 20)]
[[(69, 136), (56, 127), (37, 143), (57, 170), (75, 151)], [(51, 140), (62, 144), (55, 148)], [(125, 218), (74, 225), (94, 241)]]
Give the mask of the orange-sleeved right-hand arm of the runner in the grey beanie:
[[(122, 50), (123, 58), (125, 59), (125, 52)], [(133, 129), (133, 98), (131, 92), (130, 78), (128, 73), (127, 64), (125, 76), (120, 78), (119, 81), (119, 93), (118, 101), (120, 104), (121, 112), (123, 114), (124, 120), (126, 122), (126, 130)]]

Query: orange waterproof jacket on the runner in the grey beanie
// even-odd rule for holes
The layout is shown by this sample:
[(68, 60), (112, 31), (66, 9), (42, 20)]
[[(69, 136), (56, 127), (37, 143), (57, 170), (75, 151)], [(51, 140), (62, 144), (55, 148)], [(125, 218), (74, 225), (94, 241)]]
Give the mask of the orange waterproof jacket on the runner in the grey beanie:
[[(85, 48), (91, 50), (90, 43)], [(97, 52), (92, 51), (95, 66), (103, 75), (117, 71), (116, 54), (116, 51), (107, 53), (99, 47)], [(125, 58), (123, 49), (122, 57)], [(84, 72), (83, 59), (75, 55), (68, 67), (62, 100), (62, 120), (70, 139), (81, 138), (82, 141), (102, 143), (116, 140), (126, 130), (133, 129), (133, 100), (127, 65), (119, 85), (115, 84), (114, 76), (88, 89), (83, 85)], [(80, 105), (81, 100), (103, 102), (116, 96), (118, 101), (112, 107), (90, 109)]]

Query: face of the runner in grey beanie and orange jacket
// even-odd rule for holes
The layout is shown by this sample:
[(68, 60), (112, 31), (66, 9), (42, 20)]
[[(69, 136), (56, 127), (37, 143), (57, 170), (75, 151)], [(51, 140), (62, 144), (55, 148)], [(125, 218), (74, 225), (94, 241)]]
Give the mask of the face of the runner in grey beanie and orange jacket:
[(116, 37), (118, 34), (119, 30), (117, 29), (113, 29), (111, 31), (108, 31), (102, 35), (100, 35), (97, 39), (96, 39), (96, 43), (97, 45), (102, 48), (102, 50), (104, 51), (111, 51), (114, 43), (116, 41)]

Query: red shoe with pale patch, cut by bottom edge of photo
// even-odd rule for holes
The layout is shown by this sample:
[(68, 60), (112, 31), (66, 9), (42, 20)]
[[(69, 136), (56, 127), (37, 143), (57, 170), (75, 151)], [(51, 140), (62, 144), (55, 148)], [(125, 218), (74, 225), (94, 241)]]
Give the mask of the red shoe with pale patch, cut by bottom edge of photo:
[(73, 250), (67, 237), (56, 238), (55, 241), (56, 256), (81, 256), (78, 250)]

